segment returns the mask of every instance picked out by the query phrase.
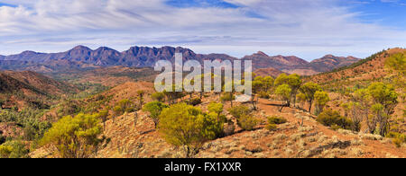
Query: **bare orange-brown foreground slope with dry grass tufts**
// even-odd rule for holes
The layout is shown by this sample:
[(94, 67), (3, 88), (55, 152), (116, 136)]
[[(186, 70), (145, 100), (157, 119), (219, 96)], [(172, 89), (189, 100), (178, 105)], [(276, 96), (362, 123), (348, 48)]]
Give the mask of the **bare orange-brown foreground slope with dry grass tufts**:
[[(207, 101), (216, 96), (209, 96)], [(210, 99), (210, 100), (209, 100)], [(198, 158), (382, 158), (406, 157), (405, 148), (396, 148), (391, 139), (382, 136), (354, 134), (347, 130), (334, 131), (316, 122), (315, 117), (301, 110), (286, 108), (279, 112), (274, 102), (261, 100), (255, 115), (261, 124), (254, 131), (239, 131), (231, 136), (206, 143)], [(228, 107), (229, 104), (226, 104)], [(277, 115), (288, 122), (276, 131), (265, 129), (266, 117)], [(227, 115), (228, 119), (232, 119)], [(302, 119), (304, 125), (300, 126)], [(180, 158), (182, 148), (165, 142), (154, 129), (152, 119), (143, 111), (125, 114), (106, 122), (107, 141), (97, 157), (100, 158)], [(32, 157), (52, 157), (44, 150), (32, 152)]]

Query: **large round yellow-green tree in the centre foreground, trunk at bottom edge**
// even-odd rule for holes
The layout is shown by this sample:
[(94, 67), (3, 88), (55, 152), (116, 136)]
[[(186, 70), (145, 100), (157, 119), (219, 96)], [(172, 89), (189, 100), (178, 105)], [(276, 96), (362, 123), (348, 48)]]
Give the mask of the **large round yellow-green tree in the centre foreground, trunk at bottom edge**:
[(202, 145), (223, 131), (223, 122), (186, 103), (164, 109), (159, 117), (158, 129), (171, 145), (183, 146), (185, 157), (198, 154)]

